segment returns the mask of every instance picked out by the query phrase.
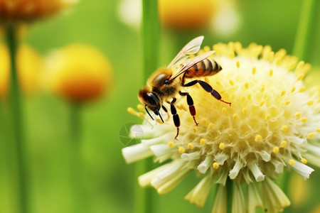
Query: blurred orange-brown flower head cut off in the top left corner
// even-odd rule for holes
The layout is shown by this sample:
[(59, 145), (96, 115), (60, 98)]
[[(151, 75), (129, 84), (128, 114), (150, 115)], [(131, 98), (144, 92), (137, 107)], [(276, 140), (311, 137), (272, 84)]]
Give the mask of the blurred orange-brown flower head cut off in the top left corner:
[(75, 0), (0, 0), (0, 23), (33, 21), (75, 4)]

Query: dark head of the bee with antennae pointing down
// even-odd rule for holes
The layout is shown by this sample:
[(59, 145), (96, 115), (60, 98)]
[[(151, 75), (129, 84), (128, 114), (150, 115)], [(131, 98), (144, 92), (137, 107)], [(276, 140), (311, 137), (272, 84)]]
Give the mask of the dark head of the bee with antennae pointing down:
[[(138, 98), (142, 104), (144, 104), (144, 107), (148, 107), (151, 111), (154, 112), (154, 114), (159, 115), (159, 110), (161, 108), (161, 100), (159, 98), (159, 95), (155, 92), (151, 92), (149, 88), (143, 87), (140, 89)], [(146, 109), (146, 112), (149, 114), (148, 109)], [(152, 118), (152, 116), (149, 114), (149, 116)]]

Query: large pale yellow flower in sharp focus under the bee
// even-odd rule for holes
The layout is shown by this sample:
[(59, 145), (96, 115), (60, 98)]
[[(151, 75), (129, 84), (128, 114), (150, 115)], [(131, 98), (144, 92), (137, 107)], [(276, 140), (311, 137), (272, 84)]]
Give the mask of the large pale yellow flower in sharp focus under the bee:
[(188, 87), (199, 124), (194, 124), (186, 100), (178, 100), (178, 141), (172, 116), (164, 124), (153, 123), (143, 106), (141, 112), (129, 108), (145, 118), (144, 124), (132, 126), (132, 137), (134, 129), (144, 134), (139, 134), (141, 143), (122, 149), (124, 159), (132, 163), (154, 156), (165, 162), (139, 177), (142, 187), (155, 187), (159, 194), (195, 171), (203, 178), (185, 198), (198, 207), (205, 204), (210, 187), (217, 187), (213, 212), (226, 212), (226, 187), (231, 187), (233, 212), (255, 212), (256, 207), (278, 212), (290, 204), (276, 184), (284, 170), (307, 179), (314, 171), (309, 164), (320, 166), (319, 90), (304, 84), (310, 66), (283, 49), (274, 53), (255, 43), (247, 48), (219, 43), (213, 50), (223, 70), (204, 80), (231, 107), (200, 86)]

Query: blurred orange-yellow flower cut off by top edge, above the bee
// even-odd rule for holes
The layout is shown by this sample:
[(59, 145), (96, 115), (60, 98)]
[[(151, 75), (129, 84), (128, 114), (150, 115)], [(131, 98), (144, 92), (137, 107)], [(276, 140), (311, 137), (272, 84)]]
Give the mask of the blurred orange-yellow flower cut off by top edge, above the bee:
[(161, 23), (171, 28), (201, 28), (210, 23), (213, 13), (213, 0), (159, 0)]

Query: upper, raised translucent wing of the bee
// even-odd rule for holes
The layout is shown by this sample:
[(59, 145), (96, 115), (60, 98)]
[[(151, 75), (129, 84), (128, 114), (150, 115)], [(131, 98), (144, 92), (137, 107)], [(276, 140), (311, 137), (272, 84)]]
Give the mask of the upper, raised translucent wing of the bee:
[(176, 62), (178, 62), (181, 59), (186, 59), (188, 58), (187, 55), (191, 55), (191, 54), (195, 54), (198, 53), (198, 51), (200, 50), (200, 46), (201, 43), (203, 41), (204, 36), (198, 36), (197, 38), (193, 38), (193, 40), (191, 40), (189, 43), (187, 43), (178, 53), (178, 55), (176, 55), (176, 57), (174, 58), (174, 60), (172, 60), (170, 62), (170, 64), (168, 65), (168, 67), (171, 67), (172, 65), (174, 65)]

